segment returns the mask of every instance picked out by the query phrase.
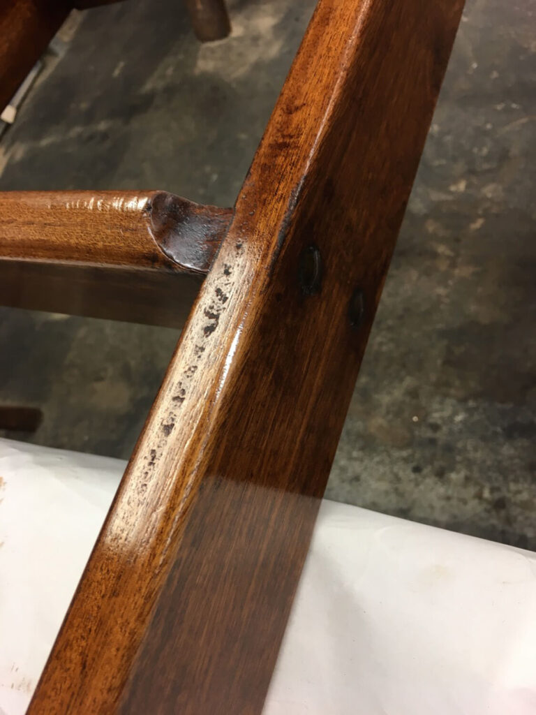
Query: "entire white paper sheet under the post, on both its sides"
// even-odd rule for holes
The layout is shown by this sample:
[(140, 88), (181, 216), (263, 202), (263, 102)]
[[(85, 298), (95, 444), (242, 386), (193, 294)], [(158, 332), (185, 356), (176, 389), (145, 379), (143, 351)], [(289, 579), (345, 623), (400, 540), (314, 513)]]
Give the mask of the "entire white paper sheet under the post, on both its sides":
[[(0, 714), (22, 715), (124, 469), (0, 440)], [(324, 501), (264, 715), (536, 715), (536, 554)]]

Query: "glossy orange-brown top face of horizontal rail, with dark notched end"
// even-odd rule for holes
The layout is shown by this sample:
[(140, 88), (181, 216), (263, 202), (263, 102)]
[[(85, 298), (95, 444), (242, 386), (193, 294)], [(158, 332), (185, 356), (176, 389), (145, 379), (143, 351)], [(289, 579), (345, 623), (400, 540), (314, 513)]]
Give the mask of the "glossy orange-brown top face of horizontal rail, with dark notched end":
[(207, 273), (231, 216), (167, 192), (0, 192), (0, 260)]

